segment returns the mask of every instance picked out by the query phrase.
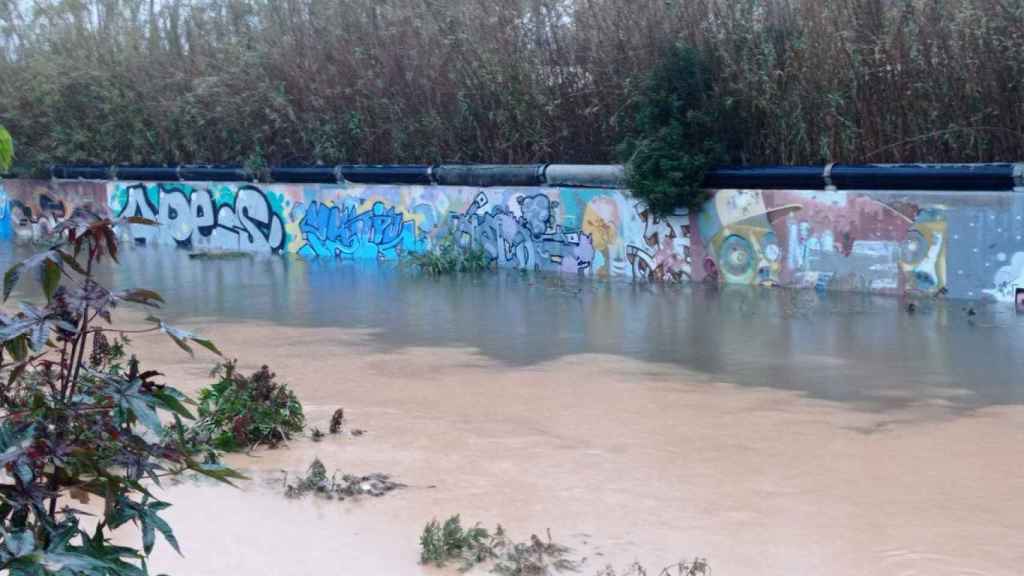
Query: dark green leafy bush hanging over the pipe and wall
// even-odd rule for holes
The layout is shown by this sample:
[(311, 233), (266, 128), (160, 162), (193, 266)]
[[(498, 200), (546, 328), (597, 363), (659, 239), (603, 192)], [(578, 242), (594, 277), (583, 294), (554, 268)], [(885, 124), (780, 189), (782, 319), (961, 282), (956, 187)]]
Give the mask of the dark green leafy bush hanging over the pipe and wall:
[(618, 152), (630, 190), (654, 213), (695, 208), (708, 199), (705, 175), (726, 159), (712, 89), (700, 52), (676, 45), (631, 98), (630, 135)]

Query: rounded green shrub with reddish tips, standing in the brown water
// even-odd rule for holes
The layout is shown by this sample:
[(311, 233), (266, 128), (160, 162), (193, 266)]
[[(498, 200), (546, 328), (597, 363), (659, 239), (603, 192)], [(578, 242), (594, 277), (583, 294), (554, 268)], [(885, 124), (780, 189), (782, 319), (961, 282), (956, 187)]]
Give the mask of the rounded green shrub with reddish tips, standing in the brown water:
[(238, 451), (258, 445), (276, 446), (301, 434), (302, 405), (287, 384), (263, 366), (251, 376), (238, 372), (237, 362), (218, 365), (220, 379), (199, 393), (199, 421), (191, 435), (213, 447)]

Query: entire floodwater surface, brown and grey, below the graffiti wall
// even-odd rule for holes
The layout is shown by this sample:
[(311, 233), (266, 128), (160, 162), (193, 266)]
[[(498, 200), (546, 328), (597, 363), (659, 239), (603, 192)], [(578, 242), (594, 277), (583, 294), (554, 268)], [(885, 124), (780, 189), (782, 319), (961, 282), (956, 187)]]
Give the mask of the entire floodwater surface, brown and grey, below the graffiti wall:
[[(125, 259), (112, 280), (162, 290), (168, 316), (244, 368), (269, 364), (310, 425), (343, 406), (368, 430), (231, 456), (253, 479), (240, 490), (167, 487), (184, 557), (158, 544), (154, 572), (435, 574), (417, 539), (456, 512), (519, 538), (550, 529), (584, 574), (693, 556), (737, 575), (1024, 566), (1022, 325), (1001, 308)], [(209, 381), (212, 359), (135, 343), (180, 387)], [(282, 470), (314, 456), (411, 487), (282, 497)]]

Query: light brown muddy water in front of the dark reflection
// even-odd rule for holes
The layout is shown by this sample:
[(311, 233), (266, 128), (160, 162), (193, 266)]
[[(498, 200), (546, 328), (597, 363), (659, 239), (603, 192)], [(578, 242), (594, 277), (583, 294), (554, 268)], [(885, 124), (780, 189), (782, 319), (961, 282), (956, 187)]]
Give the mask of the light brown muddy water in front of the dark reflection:
[[(522, 368), (462, 348), (380, 352), (351, 330), (194, 327), (247, 371), (270, 365), (310, 425), (326, 431), (344, 407), (347, 426), (368, 431), (231, 456), (254, 479), (242, 490), (160, 492), (185, 556), (158, 543), (154, 573), (434, 573), (417, 565), (420, 531), (456, 512), (519, 539), (550, 528), (587, 558), (583, 574), (693, 556), (717, 575), (1024, 566), (1021, 407), (868, 413), (618, 357)], [(209, 381), (208, 356), (158, 336), (135, 347), (183, 389)], [(288, 500), (267, 484), (313, 457), (413, 487), (338, 502)]]

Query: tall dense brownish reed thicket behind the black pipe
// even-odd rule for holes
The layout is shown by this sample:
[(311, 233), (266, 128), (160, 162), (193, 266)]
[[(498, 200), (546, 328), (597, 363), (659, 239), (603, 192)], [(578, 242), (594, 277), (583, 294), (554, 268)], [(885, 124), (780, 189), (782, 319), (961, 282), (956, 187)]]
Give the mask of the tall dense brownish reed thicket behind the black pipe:
[(1024, 0), (0, 0), (18, 162), (605, 162), (675, 44), (737, 162), (1024, 159)]

